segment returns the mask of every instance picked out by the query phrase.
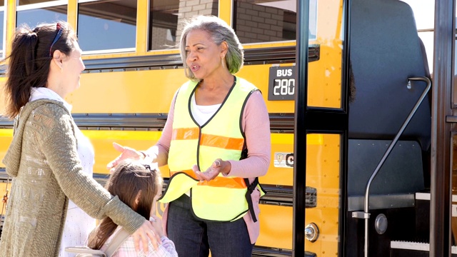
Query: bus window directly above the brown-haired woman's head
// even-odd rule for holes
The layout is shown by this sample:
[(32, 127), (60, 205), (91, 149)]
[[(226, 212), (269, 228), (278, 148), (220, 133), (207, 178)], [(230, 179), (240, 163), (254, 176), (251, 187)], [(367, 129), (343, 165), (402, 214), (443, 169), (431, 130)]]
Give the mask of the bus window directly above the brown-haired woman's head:
[[(19, 1), (16, 26), (28, 24), (35, 27), (41, 23), (66, 21), (66, 1)], [(3, 21), (3, 19), (2, 19)]]

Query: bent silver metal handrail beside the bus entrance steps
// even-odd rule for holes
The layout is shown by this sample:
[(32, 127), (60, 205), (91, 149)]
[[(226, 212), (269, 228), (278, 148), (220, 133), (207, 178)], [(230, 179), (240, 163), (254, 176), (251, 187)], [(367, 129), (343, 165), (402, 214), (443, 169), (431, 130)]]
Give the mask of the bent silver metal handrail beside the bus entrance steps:
[(366, 183), (366, 187), (365, 187), (365, 201), (363, 204), (363, 213), (361, 211), (353, 211), (353, 213), (352, 213), (353, 218), (364, 218), (365, 219), (365, 242), (363, 244), (363, 252), (364, 252), (365, 257), (368, 257), (368, 219), (370, 218), (370, 213), (369, 213), (369, 196), (370, 196), (370, 194), (369, 193), (370, 193), (371, 182), (373, 182), (373, 179), (378, 174), (378, 171), (381, 169), (381, 166), (383, 166), (384, 162), (386, 161), (386, 158), (391, 153), (393, 147), (396, 145), (398, 138), (400, 138), (401, 134), (406, 129), (406, 126), (408, 126), (409, 121), (411, 121), (414, 114), (416, 114), (417, 109), (421, 105), (423, 99), (426, 98), (428, 91), (430, 91), (430, 89), (431, 89), (431, 80), (425, 76), (408, 78), (408, 83), (406, 84), (408, 89), (411, 89), (411, 81), (426, 82), (427, 83), (426, 89), (423, 91), (421, 97), (419, 97), (418, 101), (416, 102), (416, 105), (414, 105), (413, 109), (409, 113), (408, 118), (406, 118), (406, 120), (403, 122), (403, 125), (401, 126), (400, 130), (398, 130), (398, 133), (396, 133), (395, 138), (393, 138), (392, 142), (389, 144), (386, 152), (384, 153), (383, 157), (381, 158), (381, 161), (379, 161), (378, 166), (376, 166), (375, 170), (371, 174), (371, 177), (368, 179), (368, 182)]

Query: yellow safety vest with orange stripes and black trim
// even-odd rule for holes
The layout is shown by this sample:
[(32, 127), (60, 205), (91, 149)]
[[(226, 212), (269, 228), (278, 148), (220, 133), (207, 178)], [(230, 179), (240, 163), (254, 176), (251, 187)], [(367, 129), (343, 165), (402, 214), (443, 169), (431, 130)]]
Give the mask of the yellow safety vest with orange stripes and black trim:
[[(176, 96), (168, 161), (171, 178), (160, 201), (169, 203), (190, 189), (192, 211), (202, 220), (234, 221), (241, 218), (248, 211), (250, 193), (257, 186), (257, 183), (252, 185), (250, 193), (246, 194), (245, 178), (219, 174), (211, 181), (200, 182), (191, 169), (197, 164), (200, 171), (206, 171), (216, 158), (241, 158), (245, 144), (241, 128), (243, 108), (248, 96), (258, 89), (244, 79), (235, 77), (235, 80), (221, 107), (203, 126), (199, 126), (191, 114), (191, 98), (197, 82), (187, 82)], [(255, 220), (255, 216), (253, 218)]]

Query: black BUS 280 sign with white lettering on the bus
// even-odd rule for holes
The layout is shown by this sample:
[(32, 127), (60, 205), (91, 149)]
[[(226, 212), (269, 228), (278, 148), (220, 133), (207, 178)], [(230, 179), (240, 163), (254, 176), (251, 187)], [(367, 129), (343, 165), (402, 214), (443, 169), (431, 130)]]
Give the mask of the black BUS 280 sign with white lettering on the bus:
[(268, 100), (295, 99), (295, 66), (270, 67), (268, 76)]

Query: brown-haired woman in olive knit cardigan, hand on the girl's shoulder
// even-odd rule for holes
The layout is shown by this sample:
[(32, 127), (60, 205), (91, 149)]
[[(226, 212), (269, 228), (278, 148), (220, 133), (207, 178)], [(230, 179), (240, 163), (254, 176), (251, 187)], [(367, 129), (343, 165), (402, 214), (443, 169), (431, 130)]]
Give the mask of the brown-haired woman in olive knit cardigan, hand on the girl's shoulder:
[(109, 216), (134, 233), (136, 249), (141, 240), (147, 251), (148, 238), (156, 246), (159, 238), (151, 223), (89, 175), (94, 150), (64, 100), (79, 88), (85, 69), (73, 29), (63, 21), (21, 26), (11, 46), (5, 93), (6, 116), (15, 119), (14, 137), (3, 163), (13, 180), (0, 256), (64, 255), (64, 233), (74, 236), (73, 228), (87, 222), (66, 218), (76, 206), (93, 218)]

